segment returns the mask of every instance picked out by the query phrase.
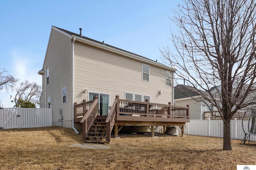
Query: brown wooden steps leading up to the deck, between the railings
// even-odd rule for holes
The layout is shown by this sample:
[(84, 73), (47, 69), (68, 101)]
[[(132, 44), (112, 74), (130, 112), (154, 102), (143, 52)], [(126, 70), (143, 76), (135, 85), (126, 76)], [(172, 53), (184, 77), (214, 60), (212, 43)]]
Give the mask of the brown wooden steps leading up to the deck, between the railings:
[(83, 142), (86, 143), (107, 143), (106, 141), (106, 117), (97, 116)]

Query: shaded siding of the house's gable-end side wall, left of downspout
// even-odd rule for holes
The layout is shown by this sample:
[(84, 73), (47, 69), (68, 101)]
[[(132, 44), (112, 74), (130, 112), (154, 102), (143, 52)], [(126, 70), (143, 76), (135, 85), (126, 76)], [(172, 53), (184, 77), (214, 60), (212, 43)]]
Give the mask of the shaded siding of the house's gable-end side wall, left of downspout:
[[(49, 68), (49, 84), (46, 84), (46, 102), (51, 98), (52, 121), (60, 119), (59, 109), (62, 109), (63, 121), (72, 118), (71, 104), (71, 41), (70, 38), (52, 29), (44, 69)], [(44, 94), (41, 97), (41, 107), (45, 107), (45, 74), (44, 70), (42, 86)], [(66, 103), (62, 104), (62, 88), (66, 87)], [(48, 104), (47, 104), (48, 106)], [(56, 123), (54, 123), (56, 124)], [(58, 123), (57, 123), (58, 124)]]

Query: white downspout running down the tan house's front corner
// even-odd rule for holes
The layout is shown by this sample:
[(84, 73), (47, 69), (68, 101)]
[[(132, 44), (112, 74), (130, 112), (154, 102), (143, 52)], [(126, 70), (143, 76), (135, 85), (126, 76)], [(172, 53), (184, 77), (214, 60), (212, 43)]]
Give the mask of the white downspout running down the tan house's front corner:
[(71, 80), (71, 99), (72, 99), (72, 103), (71, 103), (71, 108), (72, 108), (72, 129), (79, 134), (79, 132), (76, 130), (76, 128), (74, 127), (74, 46), (75, 46), (75, 41), (76, 38), (73, 38), (72, 41), (72, 80)]

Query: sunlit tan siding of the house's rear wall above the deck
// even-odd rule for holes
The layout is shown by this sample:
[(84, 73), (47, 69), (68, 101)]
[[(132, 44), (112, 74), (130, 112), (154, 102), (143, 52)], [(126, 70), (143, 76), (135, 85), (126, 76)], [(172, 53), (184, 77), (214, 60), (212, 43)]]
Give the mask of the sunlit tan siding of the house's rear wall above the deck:
[[(150, 102), (172, 102), (172, 88), (165, 86), (164, 70), (150, 65), (150, 81), (142, 80), (142, 62), (128, 59), (102, 49), (75, 43), (74, 102), (88, 100), (88, 91), (110, 94), (110, 105), (116, 95), (124, 92), (150, 96)], [(160, 73), (162, 72), (162, 73)], [(158, 94), (162, 90), (162, 94)]]

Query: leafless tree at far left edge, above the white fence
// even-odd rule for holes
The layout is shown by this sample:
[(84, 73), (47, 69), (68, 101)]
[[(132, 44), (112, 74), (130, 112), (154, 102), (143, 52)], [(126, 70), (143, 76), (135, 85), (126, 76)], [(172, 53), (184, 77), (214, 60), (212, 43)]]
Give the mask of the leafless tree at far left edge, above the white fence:
[(8, 91), (9, 89), (13, 90), (16, 82), (18, 82), (18, 78), (15, 78), (12, 75), (4, 75), (8, 72), (5, 68), (0, 68), (0, 90), (6, 89)]

